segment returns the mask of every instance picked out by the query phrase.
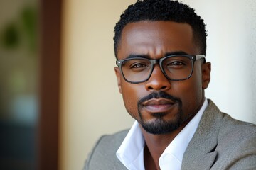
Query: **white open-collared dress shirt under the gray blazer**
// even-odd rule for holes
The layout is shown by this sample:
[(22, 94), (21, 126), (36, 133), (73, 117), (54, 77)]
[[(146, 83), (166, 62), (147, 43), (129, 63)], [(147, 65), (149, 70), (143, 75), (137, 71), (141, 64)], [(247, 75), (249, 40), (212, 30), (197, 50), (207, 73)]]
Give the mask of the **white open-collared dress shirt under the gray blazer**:
[[(208, 101), (205, 99), (200, 111), (191, 119), (174, 140), (166, 147), (163, 154), (159, 158), (159, 166), (161, 170), (180, 170), (183, 154), (191, 141), (199, 121), (208, 106)], [(139, 123), (135, 121), (127, 136), (124, 138), (122, 145), (117, 150), (117, 157), (129, 170), (144, 170), (144, 145), (145, 140), (142, 131), (139, 128)]]

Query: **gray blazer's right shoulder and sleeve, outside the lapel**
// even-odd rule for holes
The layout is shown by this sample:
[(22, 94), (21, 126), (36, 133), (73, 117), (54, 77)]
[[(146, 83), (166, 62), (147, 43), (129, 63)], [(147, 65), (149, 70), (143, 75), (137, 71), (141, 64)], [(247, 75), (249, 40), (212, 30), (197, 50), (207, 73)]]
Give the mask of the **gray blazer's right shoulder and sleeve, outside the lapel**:
[(225, 162), (221, 169), (256, 169), (256, 125), (222, 114), (216, 164)]

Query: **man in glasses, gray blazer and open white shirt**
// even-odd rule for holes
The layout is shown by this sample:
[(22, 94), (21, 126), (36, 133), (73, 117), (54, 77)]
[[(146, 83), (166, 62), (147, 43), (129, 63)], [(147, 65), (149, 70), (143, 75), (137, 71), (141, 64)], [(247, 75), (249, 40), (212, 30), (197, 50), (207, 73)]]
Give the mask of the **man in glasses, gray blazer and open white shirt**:
[(137, 1), (114, 33), (119, 92), (136, 121), (101, 137), (85, 169), (256, 169), (256, 126), (205, 98), (206, 30), (192, 8)]

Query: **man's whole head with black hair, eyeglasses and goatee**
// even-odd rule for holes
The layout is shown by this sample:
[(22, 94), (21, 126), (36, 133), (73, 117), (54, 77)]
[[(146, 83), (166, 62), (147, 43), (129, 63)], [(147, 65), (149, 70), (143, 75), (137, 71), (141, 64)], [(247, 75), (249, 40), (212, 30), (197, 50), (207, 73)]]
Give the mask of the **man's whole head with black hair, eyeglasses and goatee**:
[(193, 9), (168, 0), (137, 1), (117, 23), (119, 92), (147, 132), (182, 128), (201, 108), (210, 81), (210, 63), (200, 59), (206, 50), (204, 26)]

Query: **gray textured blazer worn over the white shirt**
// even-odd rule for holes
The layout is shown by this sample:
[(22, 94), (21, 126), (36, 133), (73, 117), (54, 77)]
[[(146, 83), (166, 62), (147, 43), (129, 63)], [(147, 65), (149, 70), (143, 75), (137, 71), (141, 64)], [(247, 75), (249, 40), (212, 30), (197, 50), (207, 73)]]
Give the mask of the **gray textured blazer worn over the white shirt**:
[[(256, 125), (235, 120), (208, 102), (181, 169), (256, 169)], [(127, 169), (115, 154), (127, 132), (101, 137), (85, 162), (85, 170)]]

